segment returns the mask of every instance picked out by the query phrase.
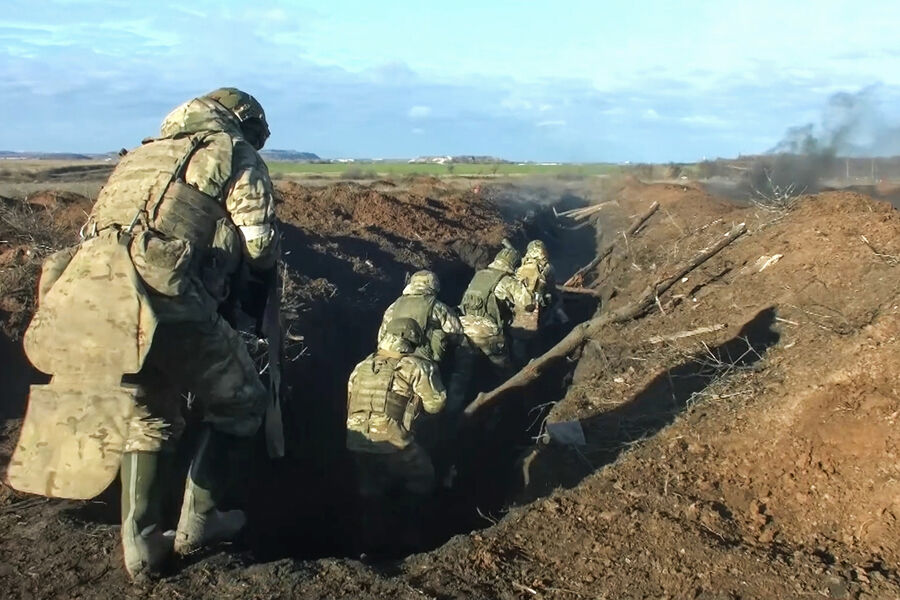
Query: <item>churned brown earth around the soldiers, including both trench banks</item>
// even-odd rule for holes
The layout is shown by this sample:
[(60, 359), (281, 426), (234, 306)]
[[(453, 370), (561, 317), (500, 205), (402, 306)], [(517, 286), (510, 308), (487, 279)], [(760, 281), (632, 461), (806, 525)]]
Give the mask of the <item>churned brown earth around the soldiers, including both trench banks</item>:
[[(4, 487), (4, 597), (900, 597), (900, 217), (889, 204), (860, 189), (789, 210), (737, 206), (692, 183), (631, 179), (474, 187), (281, 184), (285, 318), (303, 339), (288, 348), (289, 457), (250, 476), (247, 539), (135, 588), (120, 568), (115, 489), (81, 503)], [(29, 223), (59, 229), (35, 237), (43, 229), (0, 222), (3, 462), (34, 377), (16, 341), (29, 277), (89, 206), (31, 200)], [(549, 208), (609, 200), (599, 236)], [(660, 210), (623, 238), (653, 201)], [(9, 208), (21, 200), (4, 206), (21, 217)], [(434, 268), (452, 303), (504, 236), (545, 239), (561, 279), (615, 243), (586, 277), (606, 310), (739, 222), (748, 234), (647, 316), (606, 328), (460, 434), (460, 482), (430, 507), (418, 552), (359, 560), (344, 386), (405, 273)], [(597, 306), (568, 309), (579, 320)], [(710, 331), (654, 339), (698, 328)], [(548, 442), (548, 423), (584, 443)]]

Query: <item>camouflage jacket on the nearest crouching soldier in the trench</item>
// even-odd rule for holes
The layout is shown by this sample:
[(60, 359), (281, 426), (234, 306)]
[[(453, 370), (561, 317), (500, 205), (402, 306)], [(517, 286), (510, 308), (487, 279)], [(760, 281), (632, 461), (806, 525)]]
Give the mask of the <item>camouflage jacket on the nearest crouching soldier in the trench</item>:
[[(387, 334), (379, 350), (353, 369), (347, 382), (347, 448), (356, 452), (394, 452), (413, 441), (420, 411), (434, 414), (444, 408), (447, 393), (437, 366), (430, 360), (402, 354), (401, 341)], [(388, 377), (379, 369), (391, 369)], [(377, 389), (373, 389), (377, 388)], [(391, 396), (405, 403), (399, 414), (360, 403), (360, 397)], [(361, 406), (365, 404), (365, 406)]]

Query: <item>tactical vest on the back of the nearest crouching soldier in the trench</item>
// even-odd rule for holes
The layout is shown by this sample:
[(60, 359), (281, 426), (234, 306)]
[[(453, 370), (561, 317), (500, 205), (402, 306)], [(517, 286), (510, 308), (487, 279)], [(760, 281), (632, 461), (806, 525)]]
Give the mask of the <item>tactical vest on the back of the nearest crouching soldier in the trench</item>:
[(387, 356), (379, 351), (357, 371), (353, 391), (347, 401), (347, 415), (366, 413), (387, 415), (401, 426), (409, 398), (393, 391), (397, 365), (402, 356)]

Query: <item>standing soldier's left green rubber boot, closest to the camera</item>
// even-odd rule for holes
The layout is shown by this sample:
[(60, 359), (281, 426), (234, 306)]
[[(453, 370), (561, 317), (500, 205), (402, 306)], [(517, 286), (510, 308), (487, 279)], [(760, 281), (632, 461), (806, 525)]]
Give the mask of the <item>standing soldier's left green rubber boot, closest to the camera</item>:
[(122, 550), (125, 570), (139, 581), (155, 573), (172, 555), (174, 533), (159, 523), (163, 476), (160, 453), (122, 456)]

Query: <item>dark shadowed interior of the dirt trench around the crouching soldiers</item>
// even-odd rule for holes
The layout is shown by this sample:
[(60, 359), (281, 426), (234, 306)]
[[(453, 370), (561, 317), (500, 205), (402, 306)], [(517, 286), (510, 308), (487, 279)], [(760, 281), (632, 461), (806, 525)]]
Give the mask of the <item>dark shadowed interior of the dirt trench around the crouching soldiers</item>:
[[(288, 194), (286, 202), (291, 201)], [(554, 207), (561, 211), (585, 206), (584, 198), (563, 193), (543, 202), (514, 196), (493, 202), (506, 224), (505, 237), (520, 250), (531, 239), (542, 239), (561, 276), (567, 277), (593, 256), (593, 228), (566, 229), (552, 212)], [(426, 203), (425, 208), (434, 209), (435, 204)], [(433, 250), (425, 242), (424, 257), (407, 254), (407, 262), (401, 259), (402, 251), (385, 247), (385, 240), (409, 244), (396, 234), (326, 237), (284, 221), (288, 278), (307, 291), (320, 285), (320, 294), (327, 298), (314, 300), (308, 313), (291, 326), (303, 333), (310, 355), (289, 363), (284, 374), (289, 456), (274, 463), (260, 461), (254, 469), (248, 541), (259, 560), (352, 557), (370, 550), (360, 546), (354, 474), (343, 447), (347, 378), (354, 365), (373, 351), (383, 311), (399, 295), (408, 274), (430, 268), (440, 278), (440, 297), (448, 304), (458, 303), (475, 270), (486, 266), (500, 247), (494, 240), (473, 238), (473, 233), (460, 231), (447, 244), (449, 251), (438, 256), (429, 255)], [(588, 318), (596, 307), (592, 299), (572, 299), (567, 306), (570, 326)], [(568, 329), (556, 328), (543, 340), (544, 346)], [(490, 525), (487, 515), (505, 509), (517, 493), (517, 462), (538, 435), (549, 403), (565, 394), (560, 384), (564, 369), (559, 377), (547, 378), (530, 390), (521, 402), (490, 415), (489, 428), (478, 422), (459, 431), (452, 447), (436, 457), (439, 477), (441, 467), (451, 464), (458, 472), (452, 488), (440, 488), (425, 507), (419, 540), (413, 546), (388, 544), (380, 549), (378, 560), (430, 550), (453, 535)], [(488, 373), (482, 377), (484, 389), (495, 382)], [(535, 411), (538, 404), (543, 408)]]

